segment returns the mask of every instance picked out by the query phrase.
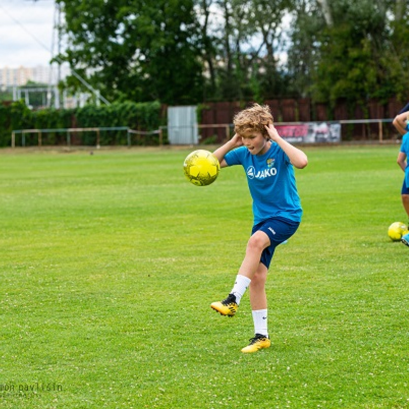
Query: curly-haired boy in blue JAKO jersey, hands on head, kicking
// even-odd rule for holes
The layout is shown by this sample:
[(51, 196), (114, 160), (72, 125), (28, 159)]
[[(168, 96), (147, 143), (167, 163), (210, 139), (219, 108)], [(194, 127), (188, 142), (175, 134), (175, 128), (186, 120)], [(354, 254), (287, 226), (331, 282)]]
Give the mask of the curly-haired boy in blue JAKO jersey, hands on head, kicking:
[(229, 296), (211, 304), (221, 315), (233, 316), (249, 287), (255, 336), (241, 351), (270, 346), (267, 331), (267, 270), (276, 247), (300, 225), (302, 208), (293, 166), (307, 166), (306, 154), (280, 137), (267, 105), (254, 104), (233, 120), (234, 137), (216, 149), (220, 167), (242, 165), (253, 198), (254, 226), (244, 260)]

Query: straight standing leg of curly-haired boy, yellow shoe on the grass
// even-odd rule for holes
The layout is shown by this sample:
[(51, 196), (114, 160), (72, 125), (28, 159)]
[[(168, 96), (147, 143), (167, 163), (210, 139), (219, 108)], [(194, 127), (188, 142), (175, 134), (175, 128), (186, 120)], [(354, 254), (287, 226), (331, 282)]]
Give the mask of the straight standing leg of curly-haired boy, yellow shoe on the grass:
[(248, 288), (250, 304), (254, 322), (254, 337), (250, 339), (249, 345), (241, 352), (251, 353), (260, 349), (268, 348), (271, 345), (267, 329), (267, 295), (265, 283), (267, 280), (267, 267), (260, 263), (256, 274)]

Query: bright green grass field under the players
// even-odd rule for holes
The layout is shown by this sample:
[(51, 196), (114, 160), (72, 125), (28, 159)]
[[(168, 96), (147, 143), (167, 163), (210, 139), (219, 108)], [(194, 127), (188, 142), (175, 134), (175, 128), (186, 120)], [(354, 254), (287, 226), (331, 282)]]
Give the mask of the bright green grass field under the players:
[(188, 148), (0, 151), (0, 407), (409, 407), (398, 146), (305, 151), (271, 348), (248, 355), (248, 294), (210, 309), (252, 227), (241, 168), (200, 188)]

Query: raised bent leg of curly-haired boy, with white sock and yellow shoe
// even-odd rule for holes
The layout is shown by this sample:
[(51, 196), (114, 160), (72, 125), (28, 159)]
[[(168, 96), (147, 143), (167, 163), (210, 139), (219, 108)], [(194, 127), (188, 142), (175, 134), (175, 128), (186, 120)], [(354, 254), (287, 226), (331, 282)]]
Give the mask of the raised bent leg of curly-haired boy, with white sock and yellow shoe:
[(229, 294), (223, 301), (211, 304), (211, 307), (221, 315), (234, 316), (239, 307), (244, 292), (252, 281), (258, 265), (260, 263), (263, 249), (270, 243), (268, 236), (264, 232), (256, 232), (248, 240), (246, 255), (239, 268), (236, 281)]

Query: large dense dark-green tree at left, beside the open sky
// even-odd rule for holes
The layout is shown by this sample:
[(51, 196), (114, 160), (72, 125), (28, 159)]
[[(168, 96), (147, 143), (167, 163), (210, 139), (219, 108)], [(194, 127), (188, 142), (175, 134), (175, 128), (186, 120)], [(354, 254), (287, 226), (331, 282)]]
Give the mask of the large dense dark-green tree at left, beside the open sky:
[(108, 100), (178, 104), (201, 98), (199, 34), (191, 0), (57, 1), (69, 44), (61, 58)]

